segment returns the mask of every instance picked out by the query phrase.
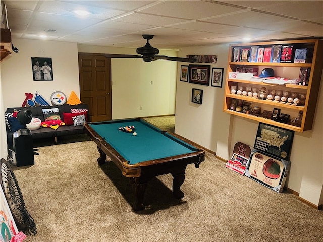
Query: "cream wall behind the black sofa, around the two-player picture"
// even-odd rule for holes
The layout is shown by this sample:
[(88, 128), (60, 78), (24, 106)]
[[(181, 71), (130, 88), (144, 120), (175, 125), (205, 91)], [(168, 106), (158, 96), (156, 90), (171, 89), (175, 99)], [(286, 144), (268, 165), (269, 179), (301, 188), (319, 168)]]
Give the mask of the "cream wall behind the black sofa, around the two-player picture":
[[(1, 63), (3, 101), (5, 109), (21, 107), (25, 93), (38, 91), (49, 103), (55, 91), (67, 97), (74, 91), (78, 96), (79, 69), (77, 44), (57, 41), (13, 39), (19, 53), (12, 53)], [(34, 81), (31, 57), (52, 59), (53, 81)]]

